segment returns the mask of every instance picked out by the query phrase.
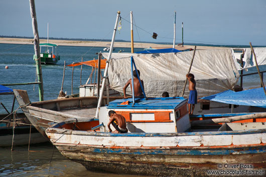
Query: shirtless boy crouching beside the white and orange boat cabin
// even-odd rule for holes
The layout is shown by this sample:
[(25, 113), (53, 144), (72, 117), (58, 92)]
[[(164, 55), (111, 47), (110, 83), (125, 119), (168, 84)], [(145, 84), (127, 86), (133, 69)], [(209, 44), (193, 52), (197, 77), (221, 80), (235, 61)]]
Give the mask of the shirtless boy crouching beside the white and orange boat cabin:
[[(113, 110), (110, 110), (108, 112), (108, 115), (110, 117), (110, 121), (108, 122), (107, 126), (110, 130), (110, 132), (112, 133), (127, 133), (128, 130), (126, 128), (126, 121), (125, 118), (120, 115), (120, 114), (116, 114), (116, 112), (114, 112)], [(112, 131), (112, 129), (110, 128), (110, 124), (113, 125), (113, 127), (115, 128), (115, 131)]]

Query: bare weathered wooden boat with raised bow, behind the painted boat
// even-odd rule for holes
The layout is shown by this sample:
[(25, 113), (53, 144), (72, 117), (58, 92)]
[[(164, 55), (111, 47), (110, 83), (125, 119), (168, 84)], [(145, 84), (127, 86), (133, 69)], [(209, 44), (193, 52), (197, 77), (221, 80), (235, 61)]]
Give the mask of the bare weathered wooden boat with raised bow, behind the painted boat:
[[(95, 96), (64, 98), (31, 103), (26, 90), (14, 89), (14, 93), (21, 109), (29, 121), (45, 137), (45, 129), (54, 123), (59, 123), (69, 118), (90, 119), (94, 117), (98, 103), (98, 98)], [(109, 100), (117, 98), (121, 97), (104, 97), (102, 106), (108, 104)]]

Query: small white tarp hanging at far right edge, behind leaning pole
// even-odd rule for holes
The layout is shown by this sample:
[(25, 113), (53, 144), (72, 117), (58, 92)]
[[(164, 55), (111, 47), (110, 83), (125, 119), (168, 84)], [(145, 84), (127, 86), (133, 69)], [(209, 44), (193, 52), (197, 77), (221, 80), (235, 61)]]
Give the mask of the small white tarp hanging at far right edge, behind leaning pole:
[[(258, 65), (266, 65), (266, 48), (263, 47), (263, 48), (253, 48), (253, 49), (254, 49), (254, 52), (256, 55), (257, 64)], [(240, 55), (242, 53), (233, 52), (233, 50), (232, 50), (234, 60), (236, 61), (236, 68), (238, 70), (256, 66), (255, 58), (254, 58), (254, 55), (251, 53), (251, 49), (250, 48), (243, 48), (243, 50), (244, 50), (244, 56), (243, 56), (242, 60), (245, 64), (243, 66), (243, 68), (240, 65), (241, 64)]]

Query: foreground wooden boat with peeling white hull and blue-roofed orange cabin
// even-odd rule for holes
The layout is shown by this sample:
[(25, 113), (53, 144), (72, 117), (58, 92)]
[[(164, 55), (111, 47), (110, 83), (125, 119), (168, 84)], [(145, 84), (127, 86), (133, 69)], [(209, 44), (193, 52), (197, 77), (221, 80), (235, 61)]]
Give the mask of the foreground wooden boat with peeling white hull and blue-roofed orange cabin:
[[(46, 134), (64, 156), (89, 170), (206, 176), (213, 170), (266, 169), (265, 122), (191, 129), (182, 97), (136, 99), (134, 105), (132, 99), (128, 105), (121, 105), (123, 101), (100, 107), (99, 119), (66, 120)], [(125, 117), (128, 133), (108, 132), (109, 110)]]

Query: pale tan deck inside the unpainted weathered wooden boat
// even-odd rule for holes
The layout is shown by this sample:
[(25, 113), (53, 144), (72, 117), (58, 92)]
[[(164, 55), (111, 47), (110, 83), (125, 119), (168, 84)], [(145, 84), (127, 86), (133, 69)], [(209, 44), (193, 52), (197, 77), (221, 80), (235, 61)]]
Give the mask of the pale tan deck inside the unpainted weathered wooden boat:
[(96, 107), (90, 107), (90, 108), (80, 108), (80, 109), (69, 109), (69, 110), (63, 110), (60, 112), (64, 112), (67, 114), (71, 114), (74, 116), (84, 117), (84, 118), (93, 118), (95, 117), (96, 113)]

